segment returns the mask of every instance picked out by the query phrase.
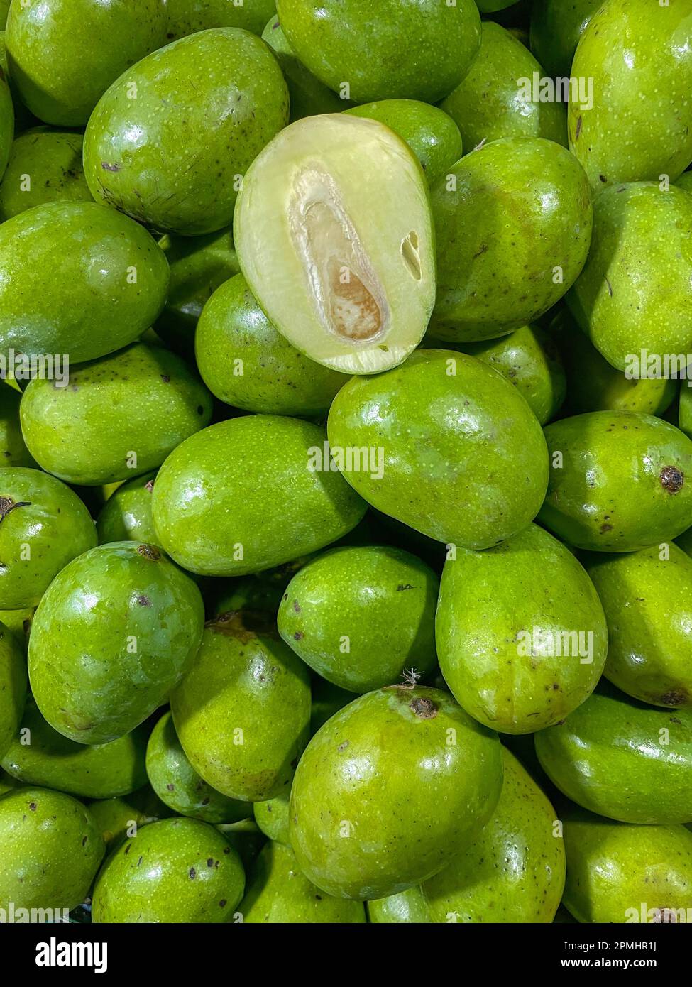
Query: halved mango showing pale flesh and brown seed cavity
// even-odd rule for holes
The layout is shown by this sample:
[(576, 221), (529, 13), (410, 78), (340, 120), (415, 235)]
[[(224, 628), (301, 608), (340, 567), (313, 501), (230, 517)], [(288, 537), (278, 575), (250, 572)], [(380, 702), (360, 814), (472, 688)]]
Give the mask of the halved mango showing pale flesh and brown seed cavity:
[(377, 120), (322, 114), (282, 130), (243, 180), (234, 239), (276, 329), (349, 374), (401, 363), (435, 299), (421, 166)]

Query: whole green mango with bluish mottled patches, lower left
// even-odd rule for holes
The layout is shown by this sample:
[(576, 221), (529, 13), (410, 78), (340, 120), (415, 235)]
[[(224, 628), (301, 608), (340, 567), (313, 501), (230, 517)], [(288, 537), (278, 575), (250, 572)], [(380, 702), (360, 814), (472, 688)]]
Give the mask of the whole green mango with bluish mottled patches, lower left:
[(38, 709), (79, 743), (108, 743), (168, 699), (201, 640), (199, 590), (155, 547), (101, 545), (52, 581), (36, 612), (29, 676)]

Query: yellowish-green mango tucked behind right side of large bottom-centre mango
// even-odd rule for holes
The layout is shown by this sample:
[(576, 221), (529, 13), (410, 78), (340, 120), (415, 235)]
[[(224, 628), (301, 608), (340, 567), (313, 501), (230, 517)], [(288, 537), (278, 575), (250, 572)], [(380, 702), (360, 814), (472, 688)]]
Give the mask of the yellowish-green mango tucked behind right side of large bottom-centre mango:
[(555, 809), (502, 748), (504, 784), (472, 847), (423, 883), (433, 922), (546, 924), (565, 886), (565, 846)]

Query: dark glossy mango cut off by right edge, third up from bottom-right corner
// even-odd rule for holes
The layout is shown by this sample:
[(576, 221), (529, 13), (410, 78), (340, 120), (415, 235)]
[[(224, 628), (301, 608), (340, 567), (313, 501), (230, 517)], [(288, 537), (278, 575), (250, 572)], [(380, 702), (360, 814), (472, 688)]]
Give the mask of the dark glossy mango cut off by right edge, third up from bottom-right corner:
[(535, 743), (543, 770), (577, 805), (620, 822), (692, 822), (689, 710), (656, 710), (604, 681)]

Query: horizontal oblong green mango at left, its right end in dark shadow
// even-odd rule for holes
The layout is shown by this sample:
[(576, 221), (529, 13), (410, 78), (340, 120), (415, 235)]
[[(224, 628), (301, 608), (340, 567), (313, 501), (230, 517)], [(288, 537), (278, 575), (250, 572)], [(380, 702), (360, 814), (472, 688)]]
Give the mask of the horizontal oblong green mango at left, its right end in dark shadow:
[(161, 466), (208, 425), (211, 412), (211, 395), (188, 364), (143, 342), (72, 370), (69, 387), (35, 378), (20, 409), (27, 446), (40, 466), (85, 487)]

